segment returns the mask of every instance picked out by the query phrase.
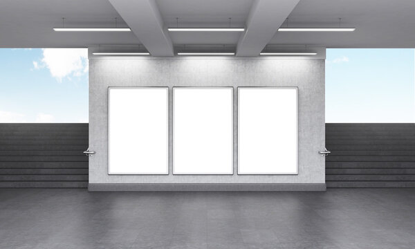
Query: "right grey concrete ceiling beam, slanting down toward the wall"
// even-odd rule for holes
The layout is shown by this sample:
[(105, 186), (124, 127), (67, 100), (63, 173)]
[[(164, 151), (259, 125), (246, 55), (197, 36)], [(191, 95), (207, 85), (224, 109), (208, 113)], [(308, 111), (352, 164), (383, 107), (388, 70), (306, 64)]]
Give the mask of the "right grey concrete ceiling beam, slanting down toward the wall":
[(257, 56), (270, 42), (299, 0), (255, 0), (239, 38), (237, 56)]

